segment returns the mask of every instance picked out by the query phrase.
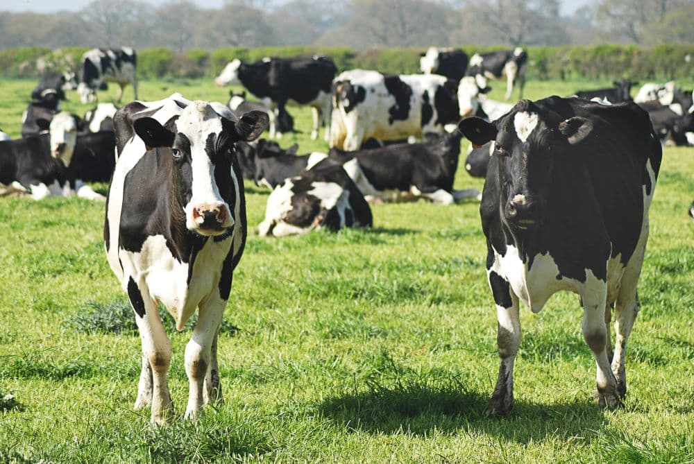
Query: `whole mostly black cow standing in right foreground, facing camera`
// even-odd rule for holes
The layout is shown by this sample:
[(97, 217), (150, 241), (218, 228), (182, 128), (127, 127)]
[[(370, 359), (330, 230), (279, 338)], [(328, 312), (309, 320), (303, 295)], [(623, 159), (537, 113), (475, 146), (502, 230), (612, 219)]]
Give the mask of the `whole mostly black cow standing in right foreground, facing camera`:
[[(464, 119), (459, 128), (477, 145), (495, 141), (480, 207), (500, 356), (487, 413), (506, 415), (513, 407), (518, 302), (538, 312), (561, 290), (581, 297), (598, 403), (618, 406), (662, 155), (648, 114), (634, 103), (552, 96), (521, 101), (493, 123)], [(612, 353), (606, 323), (615, 302)]]

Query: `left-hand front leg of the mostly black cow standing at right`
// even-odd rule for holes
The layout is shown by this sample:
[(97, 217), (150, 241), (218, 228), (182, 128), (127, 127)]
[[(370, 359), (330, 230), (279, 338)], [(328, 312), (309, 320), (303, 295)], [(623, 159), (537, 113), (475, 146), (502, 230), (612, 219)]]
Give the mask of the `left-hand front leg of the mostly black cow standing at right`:
[(511, 291), (509, 282), (493, 270), (488, 272), (488, 278), (496, 303), (496, 344), (500, 364), (496, 387), (484, 413), (489, 417), (503, 417), (514, 407), (514, 361), (521, 344), (521, 318), (518, 315), (518, 297)]

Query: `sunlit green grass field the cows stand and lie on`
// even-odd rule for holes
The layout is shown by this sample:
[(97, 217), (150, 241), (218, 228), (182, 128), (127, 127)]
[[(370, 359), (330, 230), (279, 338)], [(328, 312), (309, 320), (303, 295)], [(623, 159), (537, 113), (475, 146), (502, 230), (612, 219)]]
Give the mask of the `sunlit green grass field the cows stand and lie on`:
[[(12, 136), (33, 85), (0, 80)], [(527, 96), (580, 87), (530, 82)], [(174, 91), (228, 92), (143, 82), (140, 98)], [(307, 137), (310, 112), (292, 112), (305, 133), (282, 146), (324, 149)], [(456, 187), (481, 188), (462, 164)], [(246, 183), (251, 227), (268, 193)], [(219, 342), (226, 404), (156, 428), (132, 409), (140, 342), (103, 252), (103, 203), (0, 198), (0, 463), (694, 463), (693, 199), (694, 148), (666, 148), (623, 410), (595, 404), (582, 309), (560, 293), (539, 314), (522, 309), (516, 407), (484, 418), (498, 357), (479, 204), (409, 203), (374, 205), (366, 232), (250, 237)], [(190, 331), (169, 334), (180, 415)]]

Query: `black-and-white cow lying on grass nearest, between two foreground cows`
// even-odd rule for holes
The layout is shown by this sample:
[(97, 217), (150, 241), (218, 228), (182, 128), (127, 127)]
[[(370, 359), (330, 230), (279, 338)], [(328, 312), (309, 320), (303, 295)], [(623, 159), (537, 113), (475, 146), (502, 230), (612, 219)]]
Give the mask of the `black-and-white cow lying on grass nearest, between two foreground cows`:
[(257, 232), (261, 237), (285, 237), (372, 224), (369, 203), (341, 164), (323, 160), (272, 191)]

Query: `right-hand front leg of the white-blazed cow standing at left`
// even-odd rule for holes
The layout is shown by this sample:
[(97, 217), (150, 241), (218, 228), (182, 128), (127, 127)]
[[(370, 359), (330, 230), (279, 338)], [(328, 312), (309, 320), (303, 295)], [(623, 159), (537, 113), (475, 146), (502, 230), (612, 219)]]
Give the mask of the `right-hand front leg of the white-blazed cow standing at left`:
[[(226, 301), (221, 298), (210, 298), (201, 303), (198, 312), (198, 322), (195, 325), (190, 341), (185, 345), (185, 372), (188, 375), (188, 405), (185, 417), (194, 419), (201, 413), (203, 406), (203, 384), (212, 367), (212, 344), (221, 318), (226, 307)], [(216, 366), (215, 366), (216, 367)]]

